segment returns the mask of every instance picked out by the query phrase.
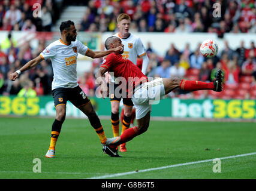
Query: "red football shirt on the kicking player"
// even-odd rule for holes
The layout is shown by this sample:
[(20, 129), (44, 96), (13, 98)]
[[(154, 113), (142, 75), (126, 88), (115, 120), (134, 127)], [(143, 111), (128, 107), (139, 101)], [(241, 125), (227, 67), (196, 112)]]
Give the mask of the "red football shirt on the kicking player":
[(109, 54), (104, 58), (100, 67), (105, 67), (108, 72), (113, 72), (116, 78), (125, 78), (128, 97), (132, 96), (135, 87), (147, 82), (147, 76), (141, 72), (140, 68), (131, 60), (124, 60), (121, 54)]

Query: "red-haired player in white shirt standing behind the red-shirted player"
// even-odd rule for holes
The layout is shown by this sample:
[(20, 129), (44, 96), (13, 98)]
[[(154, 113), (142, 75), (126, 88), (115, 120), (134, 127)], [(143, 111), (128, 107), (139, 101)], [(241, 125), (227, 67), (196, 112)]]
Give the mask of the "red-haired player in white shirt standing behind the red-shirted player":
[[(118, 29), (119, 32), (115, 34), (121, 38), (122, 44), (124, 44), (124, 53), (122, 57), (127, 60), (131, 60), (132, 63), (137, 65), (137, 56), (143, 58), (142, 68), (141, 71), (143, 74), (146, 73), (147, 65), (149, 63), (149, 58), (146, 54), (146, 49), (144, 48), (141, 39), (135, 35), (129, 33), (129, 25), (131, 23), (131, 18), (128, 14), (119, 14), (117, 18), (118, 22)], [(114, 90), (116, 90), (118, 84), (114, 85)], [(121, 97), (117, 97), (114, 93), (110, 95), (111, 101), (111, 122), (113, 128), (114, 137), (119, 136), (119, 107)], [(130, 98), (123, 98), (124, 107), (122, 108), (122, 113), (124, 115), (121, 116), (121, 123), (122, 123), (122, 133), (127, 130), (132, 121), (132, 107), (133, 103)], [(127, 148), (124, 144), (120, 145), (121, 152), (127, 152)]]

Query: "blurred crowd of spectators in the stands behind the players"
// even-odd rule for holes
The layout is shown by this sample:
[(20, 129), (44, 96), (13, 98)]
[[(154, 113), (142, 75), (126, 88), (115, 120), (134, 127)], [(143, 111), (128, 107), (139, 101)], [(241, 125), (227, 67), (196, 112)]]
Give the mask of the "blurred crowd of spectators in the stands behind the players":
[[(46, 47), (46, 41), (40, 39), (38, 47), (34, 50), (29, 42), (22, 47), (17, 46), (17, 39), (11, 35), (15, 30), (50, 31), (52, 24), (58, 19), (59, 11), (57, 1), (41, 0), (42, 14), (45, 17), (32, 17), (32, 5), (38, 1), (4, 0), (0, 4), (0, 30), (10, 30), (5, 41), (0, 46), (0, 94), (38, 96), (51, 94), (53, 71), (50, 60), (24, 72), (14, 82), (8, 80), (10, 73), (19, 69), (23, 64), (38, 56)], [(64, 4), (70, 2), (63, 1)], [(73, 4), (78, 2), (73, 0)], [(131, 16), (130, 32), (214, 32), (219, 38), (224, 33), (255, 33), (256, 12), (255, 1), (215, 1), (227, 2), (222, 5), (221, 17), (212, 17), (213, 1), (206, 0), (127, 0), (127, 1), (79, 1), (78, 4), (87, 5), (88, 9), (82, 22), (77, 26), (80, 31), (105, 32), (116, 30), (116, 16), (127, 13)], [(43, 19), (42, 19), (43, 18)], [(47, 18), (47, 19), (46, 19)], [(216, 70), (224, 70), (225, 93), (223, 98), (256, 98), (256, 47), (251, 42), (245, 47), (233, 50), (225, 41), (224, 50), (214, 58), (204, 58), (199, 50), (191, 51), (189, 43), (183, 50), (178, 50), (171, 44), (164, 57), (148, 42), (146, 46), (149, 57), (147, 76), (180, 78), (210, 81), (214, 78)], [(95, 95), (95, 72), (101, 64), (101, 59), (95, 59), (89, 72), (79, 78), (80, 87), (88, 96)], [(141, 63), (138, 58), (138, 63)], [(241, 90), (237, 93), (235, 90)], [(244, 91), (242, 91), (244, 90)], [(210, 94), (209, 94), (210, 93)], [(213, 91), (204, 91), (203, 94), (174, 91), (168, 96), (180, 98), (206, 98), (216, 97)], [(240, 96), (240, 97), (239, 97)]]

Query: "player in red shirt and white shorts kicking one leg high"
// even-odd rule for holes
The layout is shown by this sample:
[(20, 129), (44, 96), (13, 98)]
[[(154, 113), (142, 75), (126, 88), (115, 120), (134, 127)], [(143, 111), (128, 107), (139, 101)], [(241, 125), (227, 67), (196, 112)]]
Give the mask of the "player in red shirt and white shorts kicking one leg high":
[[(107, 50), (109, 48), (116, 48), (119, 46), (124, 46), (121, 39), (116, 36), (111, 36), (105, 42)], [(201, 82), (201, 81), (188, 81), (179, 78), (157, 78), (153, 81), (148, 82), (148, 79), (143, 73), (132, 64), (129, 60), (124, 60), (122, 58), (122, 51), (118, 53), (112, 53), (107, 56), (103, 64), (101, 64), (100, 69), (97, 73), (97, 82), (101, 84), (101, 93), (103, 97), (108, 94), (107, 84), (103, 78), (104, 73), (109, 71), (113, 72), (115, 77), (122, 76), (126, 79), (126, 86), (128, 87), (127, 94), (131, 97), (136, 109), (136, 119), (137, 126), (125, 130), (120, 136), (120, 141), (115, 144), (103, 147), (103, 152), (110, 156), (116, 157), (118, 151), (116, 147), (119, 144), (126, 143), (132, 138), (136, 137), (147, 131), (150, 122), (150, 111), (152, 100), (160, 100), (162, 96), (170, 93), (176, 88), (181, 88), (185, 91), (195, 91), (195, 90), (213, 90), (222, 91), (222, 72), (218, 70), (216, 78), (213, 82)], [(131, 82), (130, 79), (134, 79)], [(149, 100), (150, 99), (150, 100)]]

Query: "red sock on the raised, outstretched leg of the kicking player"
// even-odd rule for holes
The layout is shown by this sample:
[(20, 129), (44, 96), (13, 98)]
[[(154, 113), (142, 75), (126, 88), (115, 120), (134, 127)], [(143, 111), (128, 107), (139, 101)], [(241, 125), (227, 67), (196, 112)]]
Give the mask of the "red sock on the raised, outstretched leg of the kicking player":
[(213, 82), (201, 82), (201, 81), (188, 81), (182, 79), (180, 82), (180, 89), (186, 91), (195, 91), (195, 90), (213, 90)]

